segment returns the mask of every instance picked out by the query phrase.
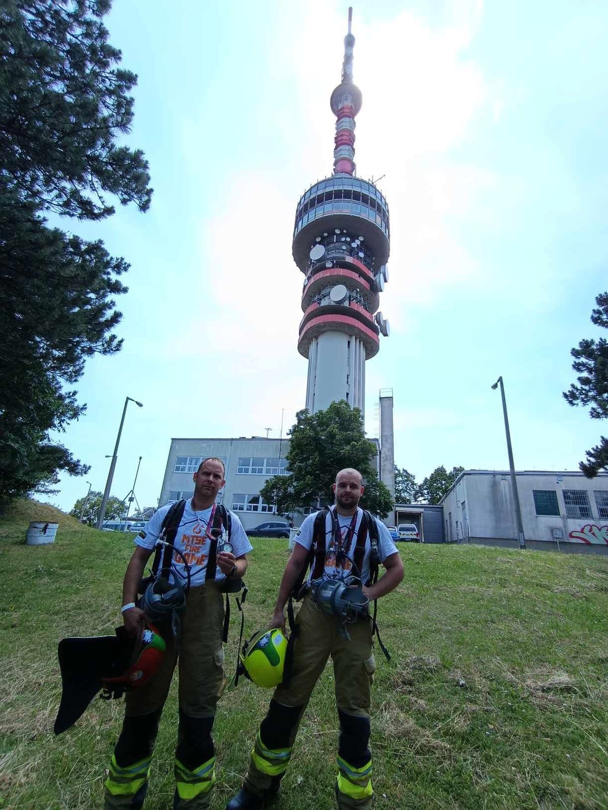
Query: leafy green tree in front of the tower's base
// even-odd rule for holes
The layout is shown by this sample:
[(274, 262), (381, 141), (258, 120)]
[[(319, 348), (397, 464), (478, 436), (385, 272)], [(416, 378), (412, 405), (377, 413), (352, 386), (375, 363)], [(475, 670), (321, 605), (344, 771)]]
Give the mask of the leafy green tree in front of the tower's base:
[(366, 438), (358, 408), (342, 400), (314, 414), (298, 411), (288, 435), (289, 474), (273, 476), (260, 491), (264, 501), (276, 504), (281, 514), (315, 505), (319, 497), (332, 503), (332, 484), (345, 467), (363, 475), (364, 509), (382, 516), (391, 511), (391, 493), (378, 479), (375, 446)]

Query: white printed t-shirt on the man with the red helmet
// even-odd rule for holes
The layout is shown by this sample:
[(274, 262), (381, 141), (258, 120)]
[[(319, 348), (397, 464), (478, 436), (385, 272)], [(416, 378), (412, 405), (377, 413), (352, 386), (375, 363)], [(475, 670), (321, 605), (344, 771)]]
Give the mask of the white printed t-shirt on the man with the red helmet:
[[(139, 532), (139, 535), (135, 535), (135, 544), (142, 548), (154, 548), (154, 544), (161, 534), (163, 518), (165, 518), (165, 514), (169, 512), (170, 508), (171, 504), (168, 504), (156, 510), (143, 531)], [(186, 501), (184, 514), (173, 541), (175, 548), (182, 552), (183, 556), (186, 557), (186, 562), (190, 565), (191, 585), (202, 585), (207, 576), (209, 553), (207, 527), (211, 513), (212, 506), (200, 512), (195, 511), (192, 508), (192, 498), (189, 498)], [(232, 518), (232, 531), (230, 532), (229, 542), (233, 547), (233, 555), (239, 557), (252, 551), (253, 547), (245, 534), (241, 521), (232, 511), (230, 516)], [(211, 530), (211, 527), (209, 529)], [(218, 542), (221, 543), (222, 540), (228, 540), (223, 526), (221, 527), (221, 539)], [(173, 552), (173, 565), (176, 566), (178, 573), (181, 573), (182, 577), (186, 578), (186, 567), (181, 557), (175, 552)], [(216, 568), (216, 581), (222, 579), (225, 579), (225, 574), (221, 573), (218, 567)]]

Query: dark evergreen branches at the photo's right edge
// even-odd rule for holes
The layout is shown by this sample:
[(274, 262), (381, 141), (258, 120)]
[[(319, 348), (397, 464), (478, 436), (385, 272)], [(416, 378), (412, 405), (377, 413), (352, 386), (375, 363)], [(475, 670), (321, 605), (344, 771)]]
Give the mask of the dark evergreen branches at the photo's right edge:
[[(602, 292), (595, 299), (597, 307), (592, 310), (591, 321), (596, 326), (608, 329), (608, 292)], [(592, 419), (608, 417), (608, 341), (581, 340), (578, 348), (571, 350), (574, 357), (572, 368), (580, 374), (563, 395), (571, 405), (590, 405), (589, 416)], [(587, 450), (587, 461), (581, 461), (580, 469), (588, 478), (594, 478), (598, 472), (608, 469), (608, 439), (600, 437), (600, 444)]]

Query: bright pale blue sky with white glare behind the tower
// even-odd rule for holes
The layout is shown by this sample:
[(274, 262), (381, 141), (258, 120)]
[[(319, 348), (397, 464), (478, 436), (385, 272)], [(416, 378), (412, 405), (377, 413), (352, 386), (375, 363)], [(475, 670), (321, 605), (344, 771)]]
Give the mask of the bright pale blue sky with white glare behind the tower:
[[(103, 489), (156, 504), (171, 437), (278, 437), (304, 405), (293, 215), (332, 170), (347, 4), (114, 0), (110, 40), (139, 75), (128, 137), (151, 210), (73, 224), (131, 262), (122, 352), (89, 361), (62, 437)], [(520, 469), (576, 469), (606, 426), (572, 408), (570, 349), (606, 289), (603, 2), (360, 2), (356, 160), (391, 213), (391, 336), (366, 364), (366, 430), (395, 402), (396, 463), (503, 469), (503, 375)], [(87, 490), (64, 477), (50, 500)]]

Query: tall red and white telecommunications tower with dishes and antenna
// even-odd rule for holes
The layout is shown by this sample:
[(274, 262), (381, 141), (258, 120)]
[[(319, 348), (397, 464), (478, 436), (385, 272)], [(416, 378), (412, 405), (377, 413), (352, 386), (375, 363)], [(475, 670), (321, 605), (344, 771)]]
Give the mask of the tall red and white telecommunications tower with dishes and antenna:
[(293, 259), (305, 275), (298, 352), (308, 358), (310, 413), (345, 399), (365, 407), (365, 361), (379, 351), (388, 322), (377, 312), (388, 281), (388, 206), (373, 182), (355, 176), (355, 116), (362, 93), (353, 83), (354, 36), (345, 36), (342, 81), (332, 92), (336, 116), (332, 177), (298, 202)]

